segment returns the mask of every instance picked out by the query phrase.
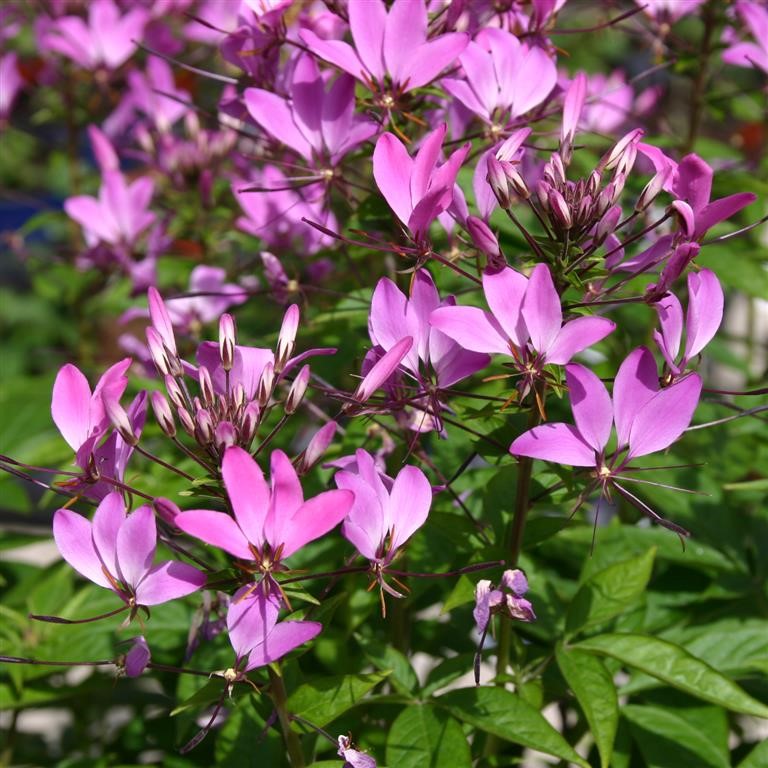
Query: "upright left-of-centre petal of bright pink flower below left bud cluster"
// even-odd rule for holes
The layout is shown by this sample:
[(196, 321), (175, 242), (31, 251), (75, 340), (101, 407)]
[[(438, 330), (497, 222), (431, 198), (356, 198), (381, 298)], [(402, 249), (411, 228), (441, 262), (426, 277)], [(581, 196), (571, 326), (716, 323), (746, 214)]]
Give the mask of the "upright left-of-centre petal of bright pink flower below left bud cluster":
[(221, 474), (240, 530), (248, 541), (261, 547), (271, 498), (261, 467), (247, 451), (233, 446), (224, 452)]

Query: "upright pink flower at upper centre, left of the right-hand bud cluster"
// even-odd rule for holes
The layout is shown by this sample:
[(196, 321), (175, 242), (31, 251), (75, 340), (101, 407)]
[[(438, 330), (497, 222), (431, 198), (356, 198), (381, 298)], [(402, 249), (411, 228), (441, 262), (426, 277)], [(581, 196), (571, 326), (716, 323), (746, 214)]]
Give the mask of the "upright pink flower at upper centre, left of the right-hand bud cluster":
[(392, 133), (380, 136), (373, 151), (376, 184), (417, 242), (425, 239), (429, 225), (451, 204), (456, 176), (469, 153), (467, 143), (438, 166), (445, 131), (443, 124), (428, 133), (413, 158)]

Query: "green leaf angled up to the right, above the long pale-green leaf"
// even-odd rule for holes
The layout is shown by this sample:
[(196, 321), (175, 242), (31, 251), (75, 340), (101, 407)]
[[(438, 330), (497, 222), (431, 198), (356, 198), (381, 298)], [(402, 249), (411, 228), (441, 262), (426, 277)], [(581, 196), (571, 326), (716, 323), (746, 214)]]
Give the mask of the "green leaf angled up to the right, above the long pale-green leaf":
[(603, 624), (637, 603), (651, 578), (656, 547), (594, 574), (583, 584), (568, 609), (569, 635)]

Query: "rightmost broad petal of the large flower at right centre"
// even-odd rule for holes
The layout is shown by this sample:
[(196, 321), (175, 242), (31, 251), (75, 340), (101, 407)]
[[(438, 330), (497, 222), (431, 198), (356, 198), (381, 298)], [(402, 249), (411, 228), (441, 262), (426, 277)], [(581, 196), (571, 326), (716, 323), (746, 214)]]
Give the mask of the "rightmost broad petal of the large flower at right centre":
[(627, 459), (663, 451), (674, 443), (691, 423), (701, 387), (701, 377), (691, 373), (648, 400), (632, 422)]

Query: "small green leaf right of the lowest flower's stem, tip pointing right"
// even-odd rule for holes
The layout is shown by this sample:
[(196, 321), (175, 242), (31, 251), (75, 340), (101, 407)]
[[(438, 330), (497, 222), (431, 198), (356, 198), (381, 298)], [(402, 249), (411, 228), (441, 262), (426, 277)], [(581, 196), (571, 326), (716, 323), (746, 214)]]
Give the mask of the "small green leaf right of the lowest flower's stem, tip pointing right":
[(354, 707), (388, 674), (337, 675), (304, 683), (288, 699), (288, 711), (322, 728)]

